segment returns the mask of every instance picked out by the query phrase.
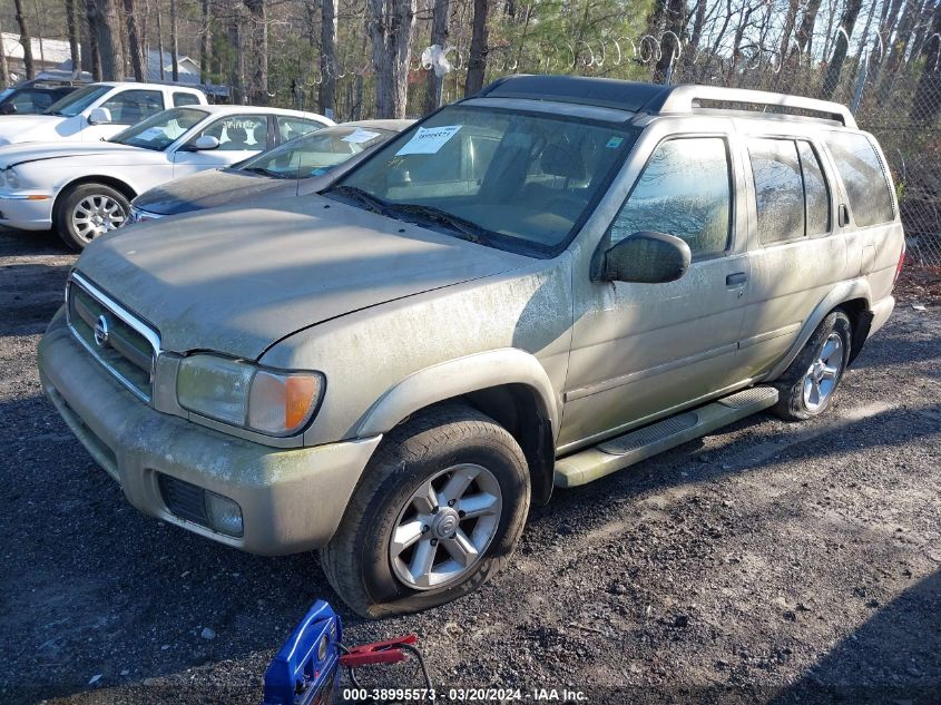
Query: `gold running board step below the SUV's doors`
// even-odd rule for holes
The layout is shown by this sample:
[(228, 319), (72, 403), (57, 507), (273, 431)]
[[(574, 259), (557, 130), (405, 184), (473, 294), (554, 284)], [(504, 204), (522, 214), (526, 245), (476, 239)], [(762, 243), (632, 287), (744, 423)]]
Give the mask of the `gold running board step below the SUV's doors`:
[(556, 487), (578, 487), (647, 460), (777, 403), (773, 386), (753, 386), (645, 425), (556, 461)]

